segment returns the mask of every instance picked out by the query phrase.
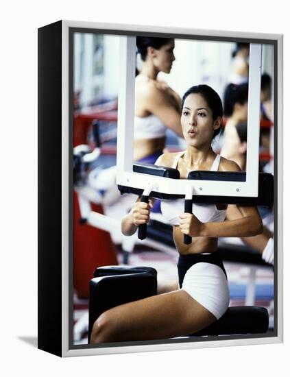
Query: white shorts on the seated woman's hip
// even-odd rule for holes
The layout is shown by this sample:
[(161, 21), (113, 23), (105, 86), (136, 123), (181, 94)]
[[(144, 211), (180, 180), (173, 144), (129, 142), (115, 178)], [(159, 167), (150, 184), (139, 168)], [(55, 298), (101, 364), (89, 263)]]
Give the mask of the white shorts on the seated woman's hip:
[(184, 276), (182, 289), (219, 319), (228, 309), (230, 291), (221, 267), (211, 263), (196, 263)]

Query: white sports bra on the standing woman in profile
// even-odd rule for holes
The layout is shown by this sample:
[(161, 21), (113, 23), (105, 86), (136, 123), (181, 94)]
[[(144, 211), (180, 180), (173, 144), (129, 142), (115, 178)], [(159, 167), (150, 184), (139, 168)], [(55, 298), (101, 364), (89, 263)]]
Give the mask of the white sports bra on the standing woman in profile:
[(167, 127), (154, 114), (148, 117), (134, 117), (134, 138), (165, 137)]

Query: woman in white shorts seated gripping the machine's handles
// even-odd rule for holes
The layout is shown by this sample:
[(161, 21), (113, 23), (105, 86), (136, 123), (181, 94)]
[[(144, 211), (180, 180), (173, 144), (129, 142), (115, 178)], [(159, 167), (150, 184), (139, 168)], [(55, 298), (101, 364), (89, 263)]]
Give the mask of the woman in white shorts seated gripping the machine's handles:
[[(213, 152), (211, 143), (222, 122), (219, 95), (206, 85), (193, 86), (182, 99), (181, 124), (187, 144), (182, 153), (167, 153), (156, 165), (173, 167), (186, 179), (189, 171), (240, 171), (235, 162)], [(224, 221), (226, 206), (193, 204), (193, 214), (183, 212), (184, 201), (162, 202), (162, 213), (173, 225), (180, 254), (180, 289), (130, 302), (102, 313), (93, 326), (90, 343), (165, 339), (193, 334), (226, 312), (228, 282), (217, 254), (219, 236), (254, 236), (263, 230), (255, 207), (237, 206), (239, 218)], [(149, 221), (149, 204), (140, 202), (123, 218), (122, 232), (130, 236)], [(192, 237), (185, 245), (184, 234)], [(117, 294), (117, 293), (116, 293)]]

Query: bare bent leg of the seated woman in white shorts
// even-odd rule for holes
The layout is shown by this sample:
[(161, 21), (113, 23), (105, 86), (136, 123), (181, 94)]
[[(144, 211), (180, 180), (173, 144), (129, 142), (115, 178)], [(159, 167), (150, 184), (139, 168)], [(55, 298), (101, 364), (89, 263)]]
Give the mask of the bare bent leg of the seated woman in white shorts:
[(102, 313), (95, 321), (90, 343), (186, 336), (215, 320), (212, 313), (180, 289), (116, 306)]

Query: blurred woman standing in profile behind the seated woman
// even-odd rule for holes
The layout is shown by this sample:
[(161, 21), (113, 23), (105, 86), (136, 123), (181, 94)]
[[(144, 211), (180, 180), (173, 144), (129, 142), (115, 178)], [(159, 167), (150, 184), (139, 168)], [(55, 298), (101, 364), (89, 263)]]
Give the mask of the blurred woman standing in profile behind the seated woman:
[(135, 81), (134, 160), (154, 164), (165, 148), (167, 127), (183, 137), (180, 97), (158, 73), (170, 73), (174, 40), (137, 37), (142, 66)]

